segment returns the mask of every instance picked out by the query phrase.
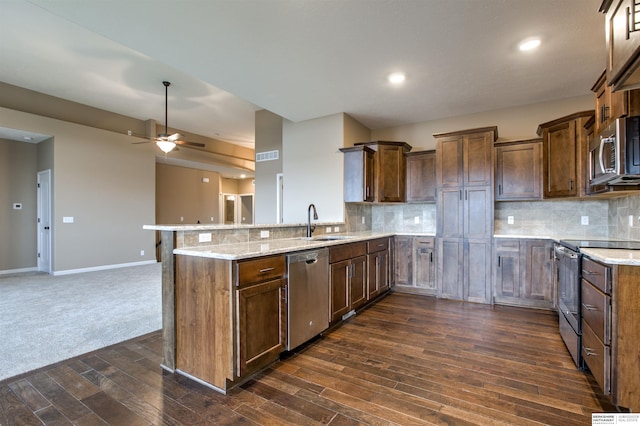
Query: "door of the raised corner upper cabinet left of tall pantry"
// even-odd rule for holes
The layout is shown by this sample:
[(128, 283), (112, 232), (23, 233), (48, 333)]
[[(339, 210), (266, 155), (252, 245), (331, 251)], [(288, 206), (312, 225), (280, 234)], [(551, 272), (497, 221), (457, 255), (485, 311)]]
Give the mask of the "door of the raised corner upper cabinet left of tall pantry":
[(378, 201), (401, 202), (405, 193), (404, 150), (399, 146), (380, 145), (378, 161)]

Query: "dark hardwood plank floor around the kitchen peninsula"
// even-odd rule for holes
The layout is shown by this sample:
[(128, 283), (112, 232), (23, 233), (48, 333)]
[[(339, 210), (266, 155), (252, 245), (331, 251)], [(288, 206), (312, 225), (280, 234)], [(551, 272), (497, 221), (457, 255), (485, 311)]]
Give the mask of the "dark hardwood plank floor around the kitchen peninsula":
[(0, 425), (590, 425), (615, 408), (556, 314), (391, 294), (221, 395), (151, 333), (0, 382)]

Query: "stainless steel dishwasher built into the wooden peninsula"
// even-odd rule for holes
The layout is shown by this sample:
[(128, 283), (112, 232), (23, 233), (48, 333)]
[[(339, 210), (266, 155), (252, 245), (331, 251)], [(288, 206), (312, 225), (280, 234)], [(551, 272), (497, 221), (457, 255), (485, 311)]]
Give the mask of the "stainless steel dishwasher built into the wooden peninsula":
[(329, 250), (287, 255), (287, 350), (329, 327)]

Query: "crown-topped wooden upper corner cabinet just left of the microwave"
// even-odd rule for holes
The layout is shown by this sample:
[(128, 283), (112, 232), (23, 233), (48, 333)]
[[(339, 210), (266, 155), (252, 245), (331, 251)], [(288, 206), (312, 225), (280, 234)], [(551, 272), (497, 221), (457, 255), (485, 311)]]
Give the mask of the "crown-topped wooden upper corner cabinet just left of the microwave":
[(544, 198), (581, 197), (587, 193), (589, 148), (585, 123), (594, 111), (582, 111), (538, 126), (542, 136)]

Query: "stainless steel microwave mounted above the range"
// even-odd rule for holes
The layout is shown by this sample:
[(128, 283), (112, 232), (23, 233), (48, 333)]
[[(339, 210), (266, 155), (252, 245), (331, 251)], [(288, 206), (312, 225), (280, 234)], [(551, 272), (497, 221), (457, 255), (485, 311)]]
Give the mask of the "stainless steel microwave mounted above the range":
[(590, 185), (640, 184), (640, 116), (618, 118), (589, 147)]

